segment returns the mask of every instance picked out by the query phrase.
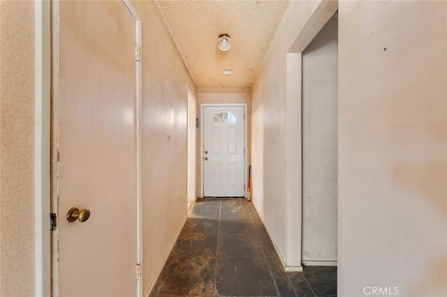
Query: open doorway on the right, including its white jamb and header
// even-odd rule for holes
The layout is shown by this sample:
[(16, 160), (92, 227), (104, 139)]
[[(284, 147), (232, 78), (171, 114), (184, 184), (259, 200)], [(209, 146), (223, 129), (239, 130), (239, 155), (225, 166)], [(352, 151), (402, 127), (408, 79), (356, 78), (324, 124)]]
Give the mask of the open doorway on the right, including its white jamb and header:
[[(287, 271), (302, 271), (303, 265), (337, 265), (338, 14), (337, 5), (331, 2), (325, 5), (326, 9), (316, 11), (314, 22), (302, 29), (287, 53), (286, 218), (287, 225), (293, 226), (287, 228)], [(319, 36), (328, 34), (330, 37)], [(328, 77), (324, 77), (327, 71)], [(329, 132), (330, 141), (325, 144), (325, 133)], [(312, 146), (308, 147), (308, 144)], [(317, 183), (318, 176), (322, 178)], [(324, 185), (327, 181), (329, 184)], [(307, 195), (312, 190), (309, 185), (316, 187), (315, 194)], [(318, 187), (330, 195), (326, 192), (320, 194)], [(330, 200), (328, 205), (324, 199)], [(328, 215), (328, 220), (325, 215)], [(309, 233), (312, 227), (319, 233)], [(314, 241), (321, 239), (321, 244), (325, 245), (321, 250), (314, 250), (318, 254), (314, 259), (307, 258), (308, 255), (313, 257), (309, 252), (312, 248), (307, 245), (310, 243), (307, 235)], [(332, 252), (331, 257), (328, 253), (323, 254), (328, 250)]]

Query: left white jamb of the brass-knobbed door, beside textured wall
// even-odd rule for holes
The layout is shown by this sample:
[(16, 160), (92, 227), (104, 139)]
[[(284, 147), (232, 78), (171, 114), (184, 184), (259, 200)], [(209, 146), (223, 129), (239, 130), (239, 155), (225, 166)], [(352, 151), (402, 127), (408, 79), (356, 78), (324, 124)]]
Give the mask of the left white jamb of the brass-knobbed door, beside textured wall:
[(50, 296), (50, 1), (34, 2), (34, 252), (35, 294)]

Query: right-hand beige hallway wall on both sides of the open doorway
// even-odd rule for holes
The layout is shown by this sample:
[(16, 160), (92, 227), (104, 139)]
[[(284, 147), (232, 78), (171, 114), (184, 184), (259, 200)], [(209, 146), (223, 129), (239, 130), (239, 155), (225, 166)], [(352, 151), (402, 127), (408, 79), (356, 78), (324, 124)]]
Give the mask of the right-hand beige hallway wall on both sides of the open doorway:
[[(318, 6), (291, 2), (252, 89), (254, 203), (286, 262), (286, 53)], [(444, 2), (340, 3), (339, 296), (446, 295), (446, 17)]]

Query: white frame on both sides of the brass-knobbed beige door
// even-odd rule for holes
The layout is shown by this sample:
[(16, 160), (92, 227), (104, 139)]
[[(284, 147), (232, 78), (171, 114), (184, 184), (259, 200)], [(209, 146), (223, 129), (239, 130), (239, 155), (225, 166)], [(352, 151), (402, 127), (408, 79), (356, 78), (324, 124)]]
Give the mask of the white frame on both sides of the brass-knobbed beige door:
[[(142, 21), (133, 8), (129, 0), (122, 0), (123, 4), (129, 10), (129, 13), (135, 19), (135, 47), (140, 48), (140, 59), (135, 59), (135, 75), (136, 75), (136, 98), (135, 98), (135, 118), (136, 118), (136, 171), (137, 171), (137, 259), (135, 265), (142, 265)], [(54, 5), (58, 7), (57, 1)], [(58, 272), (57, 264), (52, 264), (51, 259), (57, 259), (58, 250), (52, 247), (52, 238), (50, 236), (50, 209), (57, 210), (57, 197), (51, 197), (50, 192), (57, 192), (57, 183), (50, 185), (50, 181), (57, 176), (57, 172), (50, 174), (52, 162), (57, 157), (57, 139), (51, 139), (52, 130), (55, 129), (51, 121), (58, 121), (51, 113), (51, 104), (54, 100), (59, 100), (59, 94), (51, 94), (52, 85), (59, 84), (59, 77), (51, 73), (52, 63), (54, 63), (55, 72), (57, 72), (59, 63), (58, 59), (52, 60), (50, 53), (57, 47), (50, 44), (52, 38), (52, 26), (55, 24), (53, 17), (55, 14), (51, 12), (50, 1), (35, 2), (35, 18), (36, 18), (36, 143), (35, 143), (35, 189), (36, 189), (36, 296), (50, 296), (52, 288), (57, 288)], [(59, 12), (56, 13), (59, 18)], [(58, 22), (58, 20), (57, 20)], [(59, 40), (55, 40), (59, 43)], [(56, 55), (54, 55), (56, 56)], [(51, 156), (51, 157), (50, 157)], [(53, 159), (53, 160), (51, 160)], [(64, 213), (57, 211), (57, 220), (64, 218)], [(57, 230), (57, 229), (56, 229)], [(56, 231), (57, 232), (57, 231)], [(57, 241), (57, 239), (54, 239)], [(55, 271), (51, 271), (51, 266)], [(142, 269), (142, 268), (141, 268)], [(142, 274), (137, 280), (137, 296), (142, 297)]]

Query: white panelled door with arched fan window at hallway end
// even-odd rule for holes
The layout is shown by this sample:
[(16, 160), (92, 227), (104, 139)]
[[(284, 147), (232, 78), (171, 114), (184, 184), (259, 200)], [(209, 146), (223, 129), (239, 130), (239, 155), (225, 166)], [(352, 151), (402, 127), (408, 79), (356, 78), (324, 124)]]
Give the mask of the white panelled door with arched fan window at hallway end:
[(244, 106), (203, 105), (203, 196), (245, 196)]

